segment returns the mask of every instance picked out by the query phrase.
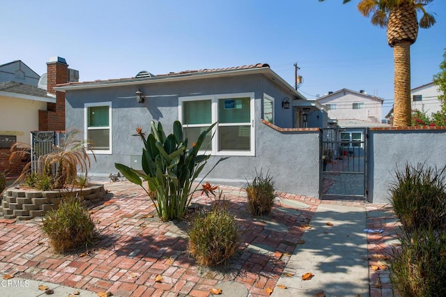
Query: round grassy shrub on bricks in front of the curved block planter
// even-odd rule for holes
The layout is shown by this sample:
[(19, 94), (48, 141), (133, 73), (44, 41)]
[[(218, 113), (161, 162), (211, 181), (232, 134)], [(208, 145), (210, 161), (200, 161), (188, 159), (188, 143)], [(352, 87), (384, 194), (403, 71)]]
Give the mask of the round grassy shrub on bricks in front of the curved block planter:
[(48, 211), (42, 227), (49, 243), (59, 253), (93, 243), (95, 224), (79, 199), (68, 196), (57, 209)]

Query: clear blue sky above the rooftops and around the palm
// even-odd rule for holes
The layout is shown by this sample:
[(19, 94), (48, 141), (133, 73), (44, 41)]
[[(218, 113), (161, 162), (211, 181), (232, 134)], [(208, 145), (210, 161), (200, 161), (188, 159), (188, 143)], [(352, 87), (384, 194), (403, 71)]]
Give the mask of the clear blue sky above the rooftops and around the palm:
[[(39, 75), (62, 56), (80, 80), (268, 63), (307, 98), (364, 89), (393, 100), (393, 55), (385, 29), (342, 0), (2, 1), (0, 64), (22, 60)], [(446, 47), (446, 1), (411, 47), (412, 87), (431, 82)]]

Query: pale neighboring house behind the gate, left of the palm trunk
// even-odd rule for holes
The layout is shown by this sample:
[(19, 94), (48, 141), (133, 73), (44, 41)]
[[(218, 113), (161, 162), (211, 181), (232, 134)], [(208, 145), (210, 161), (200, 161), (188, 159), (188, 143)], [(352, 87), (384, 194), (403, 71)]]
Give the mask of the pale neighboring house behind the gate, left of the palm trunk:
[(328, 110), (328, 117), (337, 121), (359, 121), (363, 127), (381, 123), (383, 98), (371, 96), (363, 90), (341, 89), (328, 92), (317, 99)]

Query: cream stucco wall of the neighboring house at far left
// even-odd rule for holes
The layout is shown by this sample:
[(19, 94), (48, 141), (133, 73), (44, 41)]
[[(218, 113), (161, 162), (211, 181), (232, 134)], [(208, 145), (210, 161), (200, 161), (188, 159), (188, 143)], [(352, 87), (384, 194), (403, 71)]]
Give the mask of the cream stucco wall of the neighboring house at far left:
[(0, 135), (16, 135), (17, 142), (31, 143), (30, 131), (38, 130), (38, 110), (46, 102), (0, 96)]

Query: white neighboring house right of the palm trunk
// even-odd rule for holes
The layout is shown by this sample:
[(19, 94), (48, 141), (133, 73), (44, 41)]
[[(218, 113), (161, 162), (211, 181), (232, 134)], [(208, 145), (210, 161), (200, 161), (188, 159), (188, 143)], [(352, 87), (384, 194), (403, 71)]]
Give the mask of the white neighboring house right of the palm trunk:
[(439, 112), (441, 109), (441, 102), (438, 100), (438, 96), (440, 96), (440, 94), (440, 91), (438, 91), (437, 86), (433, 84), (433, 82), (411, 89), (410, 100), (412, 110), (424, 110), (429, 116), (432, 113)]

